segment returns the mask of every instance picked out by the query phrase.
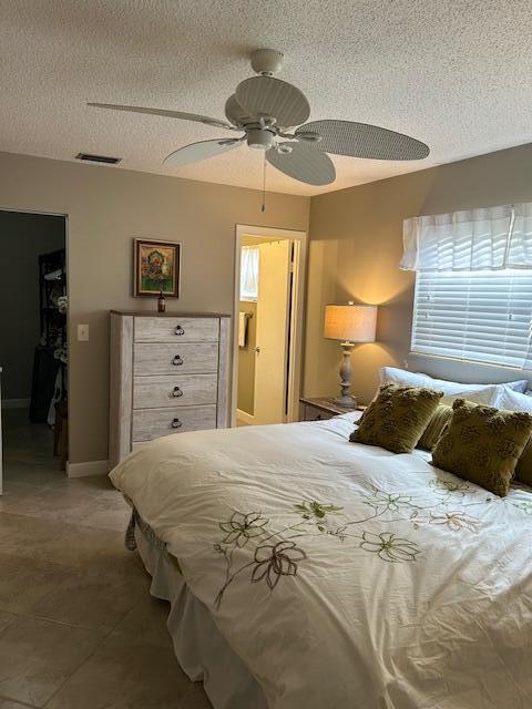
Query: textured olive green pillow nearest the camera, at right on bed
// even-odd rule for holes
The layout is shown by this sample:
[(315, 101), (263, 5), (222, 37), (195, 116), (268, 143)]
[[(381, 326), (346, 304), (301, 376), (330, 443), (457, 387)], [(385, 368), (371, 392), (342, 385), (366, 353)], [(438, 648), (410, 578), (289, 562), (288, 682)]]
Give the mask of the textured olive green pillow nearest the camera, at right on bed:
[(432, 464), (504, 497), (531, 431), (529, 413), (457, 399)]

